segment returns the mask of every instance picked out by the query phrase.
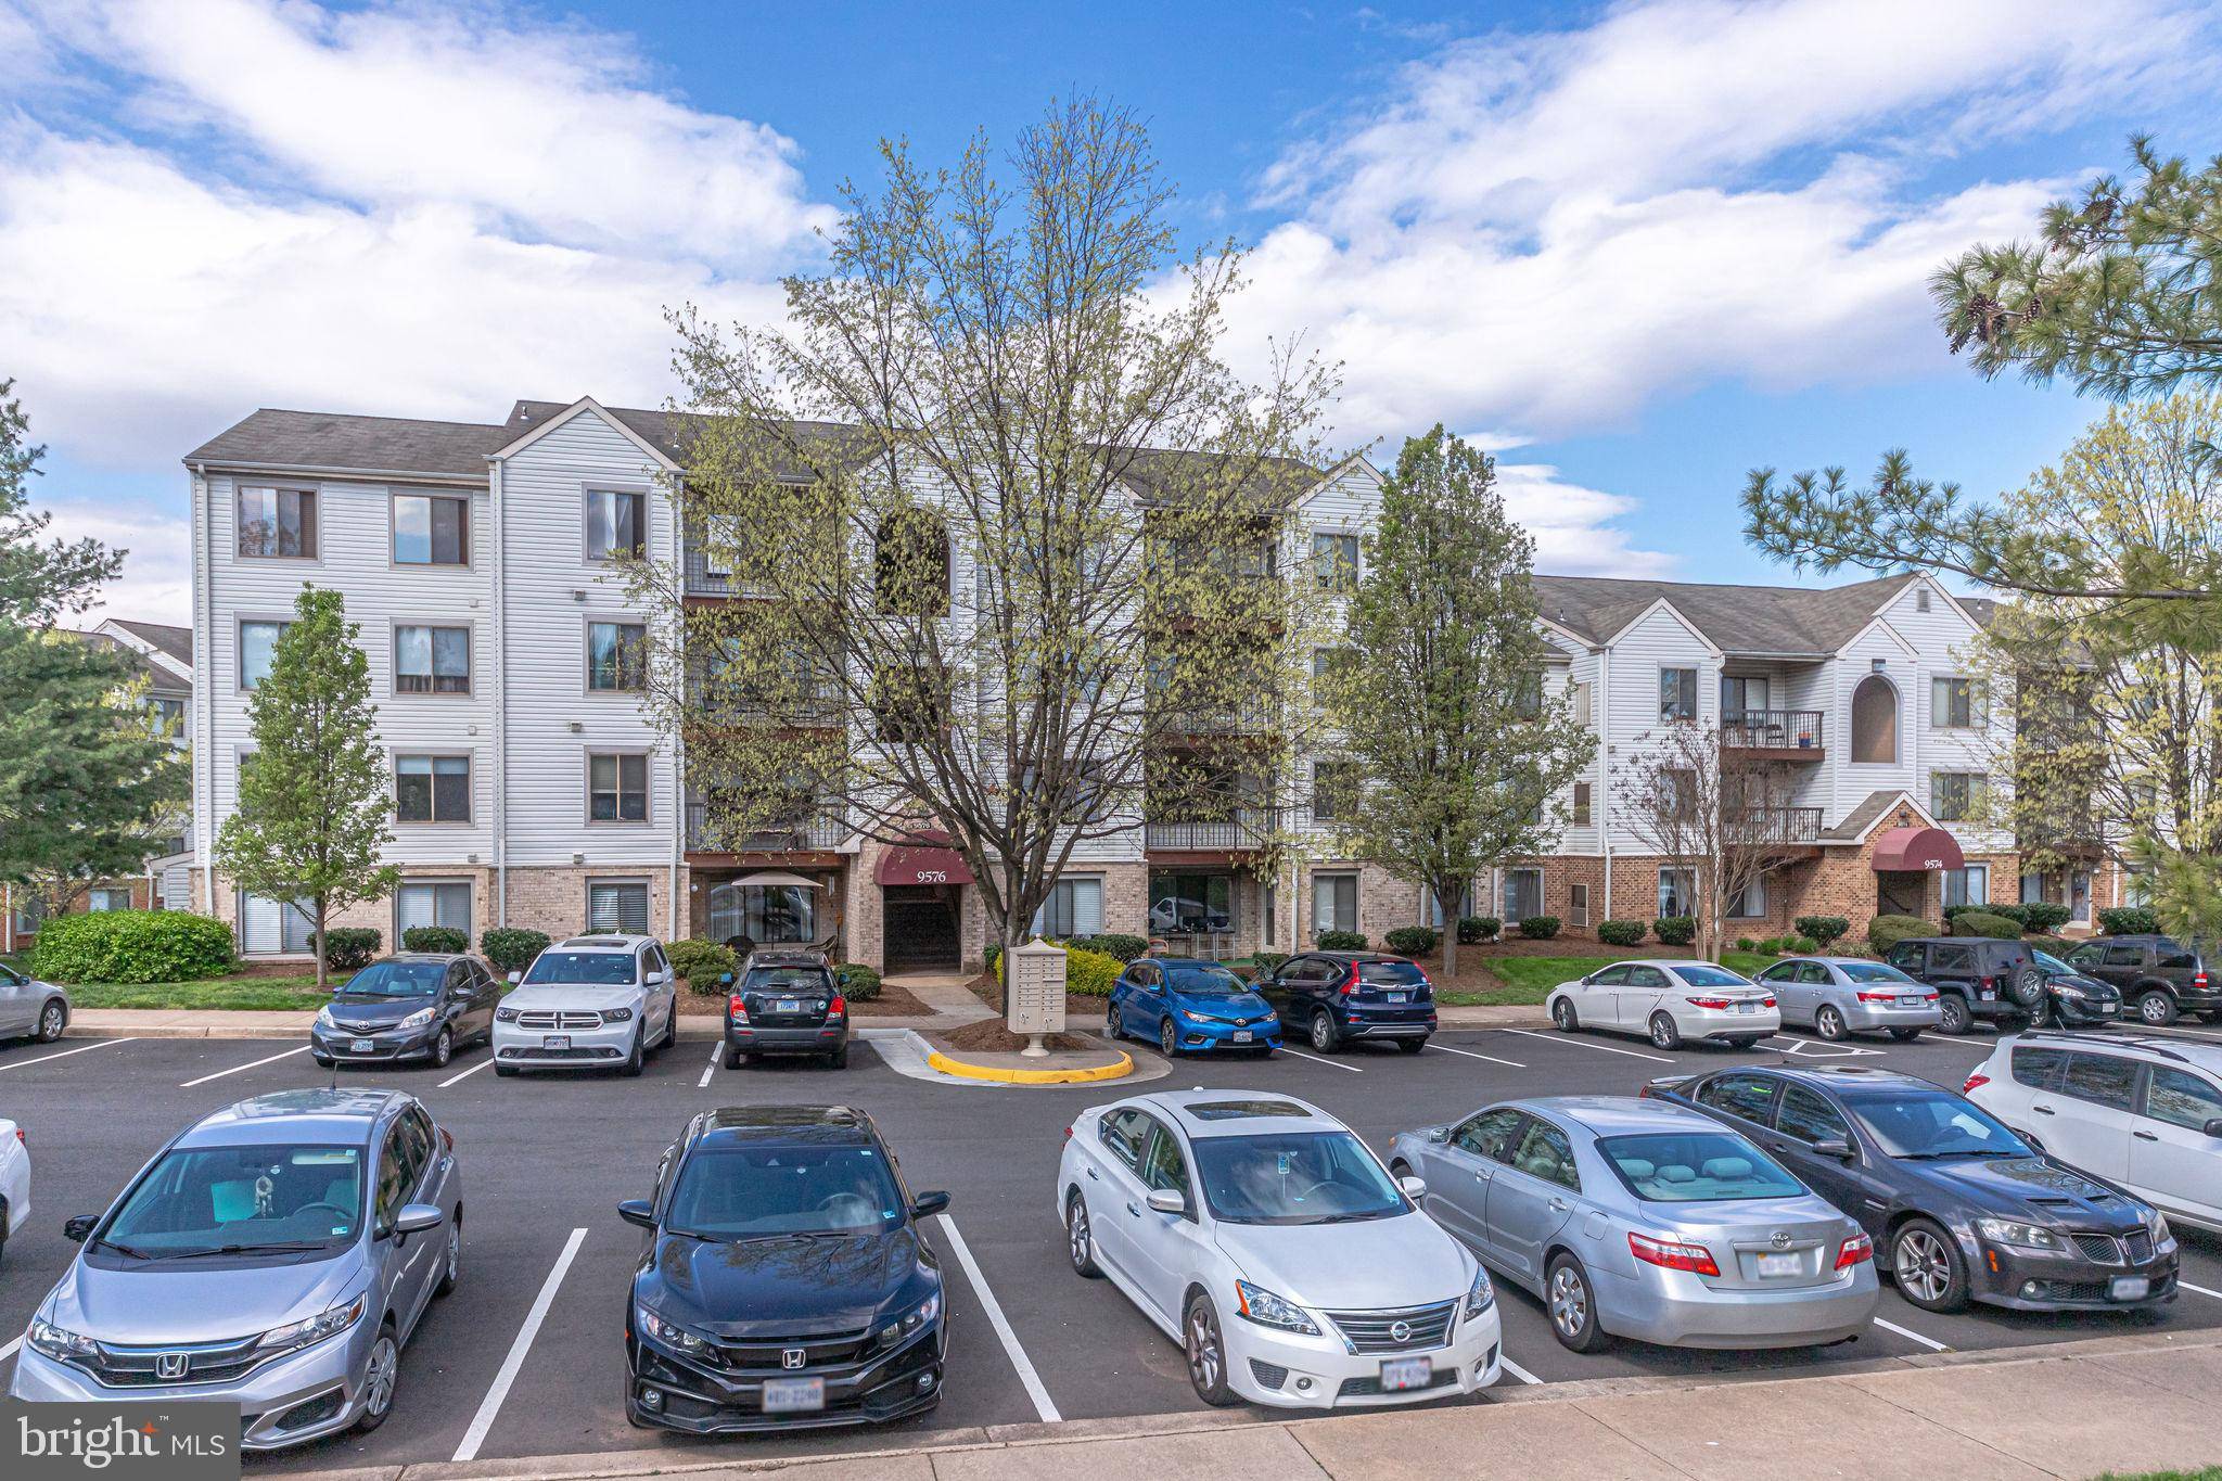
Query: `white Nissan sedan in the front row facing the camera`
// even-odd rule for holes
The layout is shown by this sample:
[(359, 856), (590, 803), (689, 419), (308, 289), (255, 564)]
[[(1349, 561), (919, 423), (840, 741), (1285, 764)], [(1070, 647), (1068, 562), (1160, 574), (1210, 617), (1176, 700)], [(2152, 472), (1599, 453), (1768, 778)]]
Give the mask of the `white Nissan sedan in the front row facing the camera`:
[(1420, 1212), (1420, 1179), (1318, 1106), (1164, 1090), (1064, 1137), (1073, 1270), (1180, 1341), (1204, 1403), (1411, 1403), (1498, 1379), (1489, 1275)]

